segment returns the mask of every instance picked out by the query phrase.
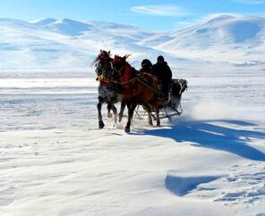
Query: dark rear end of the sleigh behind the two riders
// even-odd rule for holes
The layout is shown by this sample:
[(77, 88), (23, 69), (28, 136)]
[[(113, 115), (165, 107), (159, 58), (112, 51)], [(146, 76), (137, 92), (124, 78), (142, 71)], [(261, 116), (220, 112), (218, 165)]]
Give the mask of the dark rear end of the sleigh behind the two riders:
[(173, 79), (170, 91), (170, 101), (172, 106), (177, 110), (180, 105), (181, 96), (188, 87), (186, 79)]

